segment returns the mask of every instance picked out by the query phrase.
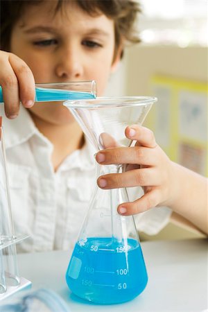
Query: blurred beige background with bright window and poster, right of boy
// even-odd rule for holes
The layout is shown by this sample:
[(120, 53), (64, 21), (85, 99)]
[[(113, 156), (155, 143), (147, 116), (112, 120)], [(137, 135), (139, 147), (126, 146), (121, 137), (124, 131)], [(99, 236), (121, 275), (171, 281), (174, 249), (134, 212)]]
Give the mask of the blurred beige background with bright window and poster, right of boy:
[[(139, 3), (142, 14), (137, 28), (142, 43), (125, 50), (106, 95), (157, 96), (146, 125), (171, 159), (207, 175), (207, 0)], [(169, 133), (168, 146), (162, 132)], [(156, 236), (140, 236), (187, 239), (201, 234), (175, 219)]]

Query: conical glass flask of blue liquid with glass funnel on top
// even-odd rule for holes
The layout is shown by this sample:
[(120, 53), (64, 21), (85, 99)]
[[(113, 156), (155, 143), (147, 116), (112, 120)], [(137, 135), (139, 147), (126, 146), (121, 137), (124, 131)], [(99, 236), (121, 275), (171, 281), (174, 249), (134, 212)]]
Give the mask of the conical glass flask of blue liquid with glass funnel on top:
[[(153, 97), (97, 98), (67, 101), (96, 150), (131, 146), (127, 125), (141, 124)], [(98, 176), (121, 173), (125, 166), (98, 165)], [(71, 291), (98, 304), (132, 300), (146, 287), (148, 276), (133, 216), (120, 216), (117, 207), (128, 202), (125, 189), (96, 187), (89, 211), (73, 250), (66, 279)]]

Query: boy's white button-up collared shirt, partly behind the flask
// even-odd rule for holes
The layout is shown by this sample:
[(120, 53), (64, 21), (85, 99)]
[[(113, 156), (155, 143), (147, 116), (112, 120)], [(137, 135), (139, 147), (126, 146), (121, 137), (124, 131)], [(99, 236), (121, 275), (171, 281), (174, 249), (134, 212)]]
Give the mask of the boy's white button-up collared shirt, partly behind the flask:
[[(6, 118), (3, 105), (4, 139), (10, 181), (15, 232), (29, 239), (17, 244), (19, 252), (73, 248), (96, 184), (94, 147), (86, 139), (53, 171), (53, 145), (35, 127), (21, 106), (14, 120)], [(139, 188), (129, 189), (130, 200), (139, 198)], [(171, 215), (167, 207), (153, 208), (135, 217), (139, 231), (156, 234)]]

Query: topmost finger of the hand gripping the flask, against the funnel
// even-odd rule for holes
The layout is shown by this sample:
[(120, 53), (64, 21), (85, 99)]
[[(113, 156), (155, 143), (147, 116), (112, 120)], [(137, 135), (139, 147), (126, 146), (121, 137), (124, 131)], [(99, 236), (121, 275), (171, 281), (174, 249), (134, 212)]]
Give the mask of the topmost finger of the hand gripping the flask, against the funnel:
[(137, 140), (137, 146), (155, 148), (157, 146), (153, 131), (141, 125), (130, 125), (125, 128), (125, 136), (131, 140)]

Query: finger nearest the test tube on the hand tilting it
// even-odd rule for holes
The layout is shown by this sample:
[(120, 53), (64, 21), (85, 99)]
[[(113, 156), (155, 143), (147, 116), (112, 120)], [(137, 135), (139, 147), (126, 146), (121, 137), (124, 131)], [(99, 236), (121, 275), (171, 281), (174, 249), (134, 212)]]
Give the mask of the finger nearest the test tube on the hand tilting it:
[(14, 55), (10, 53), (9, 62), (19, 84), (19, 98), (24, 107), (31, 107), (35, 101), (35, 80), (33, 73), (28, 65)]

